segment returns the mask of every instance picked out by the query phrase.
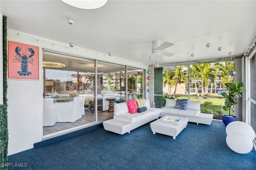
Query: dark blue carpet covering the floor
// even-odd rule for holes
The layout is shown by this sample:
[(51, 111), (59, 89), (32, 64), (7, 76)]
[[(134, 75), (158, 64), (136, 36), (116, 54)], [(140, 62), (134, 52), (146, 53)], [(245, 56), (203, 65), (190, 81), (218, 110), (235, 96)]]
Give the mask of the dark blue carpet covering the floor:
[[(149, 123), (130, 134), (101, 125), (90, 132), (8, 156), (26, 170), (252, 170), (256, 151), (238, 154), (226, 144), (226, 126), (188, 126), (176, 137), (152, 134)], [(22, 169), (13, 168), (9, 169)]]

